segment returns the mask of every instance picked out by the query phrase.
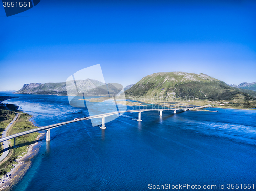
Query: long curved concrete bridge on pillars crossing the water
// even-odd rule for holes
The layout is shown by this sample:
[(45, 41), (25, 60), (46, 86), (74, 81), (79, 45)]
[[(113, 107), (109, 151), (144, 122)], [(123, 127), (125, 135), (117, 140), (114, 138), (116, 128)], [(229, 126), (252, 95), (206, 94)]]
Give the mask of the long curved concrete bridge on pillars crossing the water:
[(0, 139), (0, 142), (4, 142), (4, 141), (7, 141), (7, 140), (10, 140), (10, 139), (14, 138), (14, 148), (16, 148), (16, 145), (15, 145), (16, 137), (23, 136), (23, 135), (30, 134), (30, 133), (34, 133), (34, 132), (38, 132), (38, 131), (46, 130), (47, 131), (46, 132), (46, 141), (50, 141), (50, 129), (53, 129), (55, 127), (59, 127), (59, 126), (62, 126), (62, 125), (70, 124), (70, 123), (75, 123), (75, 122), (78, 122), (78, 121), (91, 120), (93, 118), (102, 118), (102, 126), (100, 128), (101, 129), (106, 129), (105, 117), (115, 115), (115, 114), (119, 114), (119, 113), (137, 112), (139, 114), (138, 121), (142, 121), (141, 120), (141, 113), (145, 112), (145, 111), (159, 111), (160, 112), (159, 116), (162, 116), (162, 111), (166, 111), (166, 110), (173, 110), (174, 113), (176, 113), (177, 110), (187, 111), (187, 110), (190, 110), (190, 109), (201, 109), (201, 108), (205, 108), (205, 107), (210, 107), (210, 105), (194, 107), (194, 108), (187, 108), (187, 109), (182, 109), (182, 108), (181, 109), (138, 109), (138, 110), (126, 110), (126, 111), (117, 111), (117, 112), (112, 112), (112, 113), (104, 113), (104, 114), (99, 114), (99, 115), (94, 115), (94, 116), (89, 116), (89, 117), (77, 118), (77, 119), (74, 119), (74, 120), (71, 120), (71, 121), (61, 122), (61, 123), (48, 125), (48, 126), (44, 126), (44, 127), (39, 127), (39, 128), (36, 128), (36, 129), (31, 129), (31, 130), (28, 130), (28, 131), (25, 131), (25, 132), (21, 132), (21, 133), (17, 133), (17, 134), (14, 134), (14, 135), (7, 136), (7, 137), (3, 137), (3, 138)]

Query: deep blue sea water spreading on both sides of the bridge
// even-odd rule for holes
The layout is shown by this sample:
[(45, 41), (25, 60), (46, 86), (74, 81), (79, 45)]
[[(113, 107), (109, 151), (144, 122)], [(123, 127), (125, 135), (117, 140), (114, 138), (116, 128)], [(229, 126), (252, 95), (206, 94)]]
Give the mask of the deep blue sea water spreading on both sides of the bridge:
[[(34, 115), (38, 126), (88, 116), (86, 109), (69, 106), (66, 96), (16, 96), (4, 103)], [(256, 111), (209, 110), (219, 112), (163, 111), (160, 117), (149, 111), (142, 122), (137, 113), (124, 113), (105, 130), (90, 121), (51, 129), (51, 141), (40, 141), (13, 190), (152, 190), (149, 184), (256, 189)]]

